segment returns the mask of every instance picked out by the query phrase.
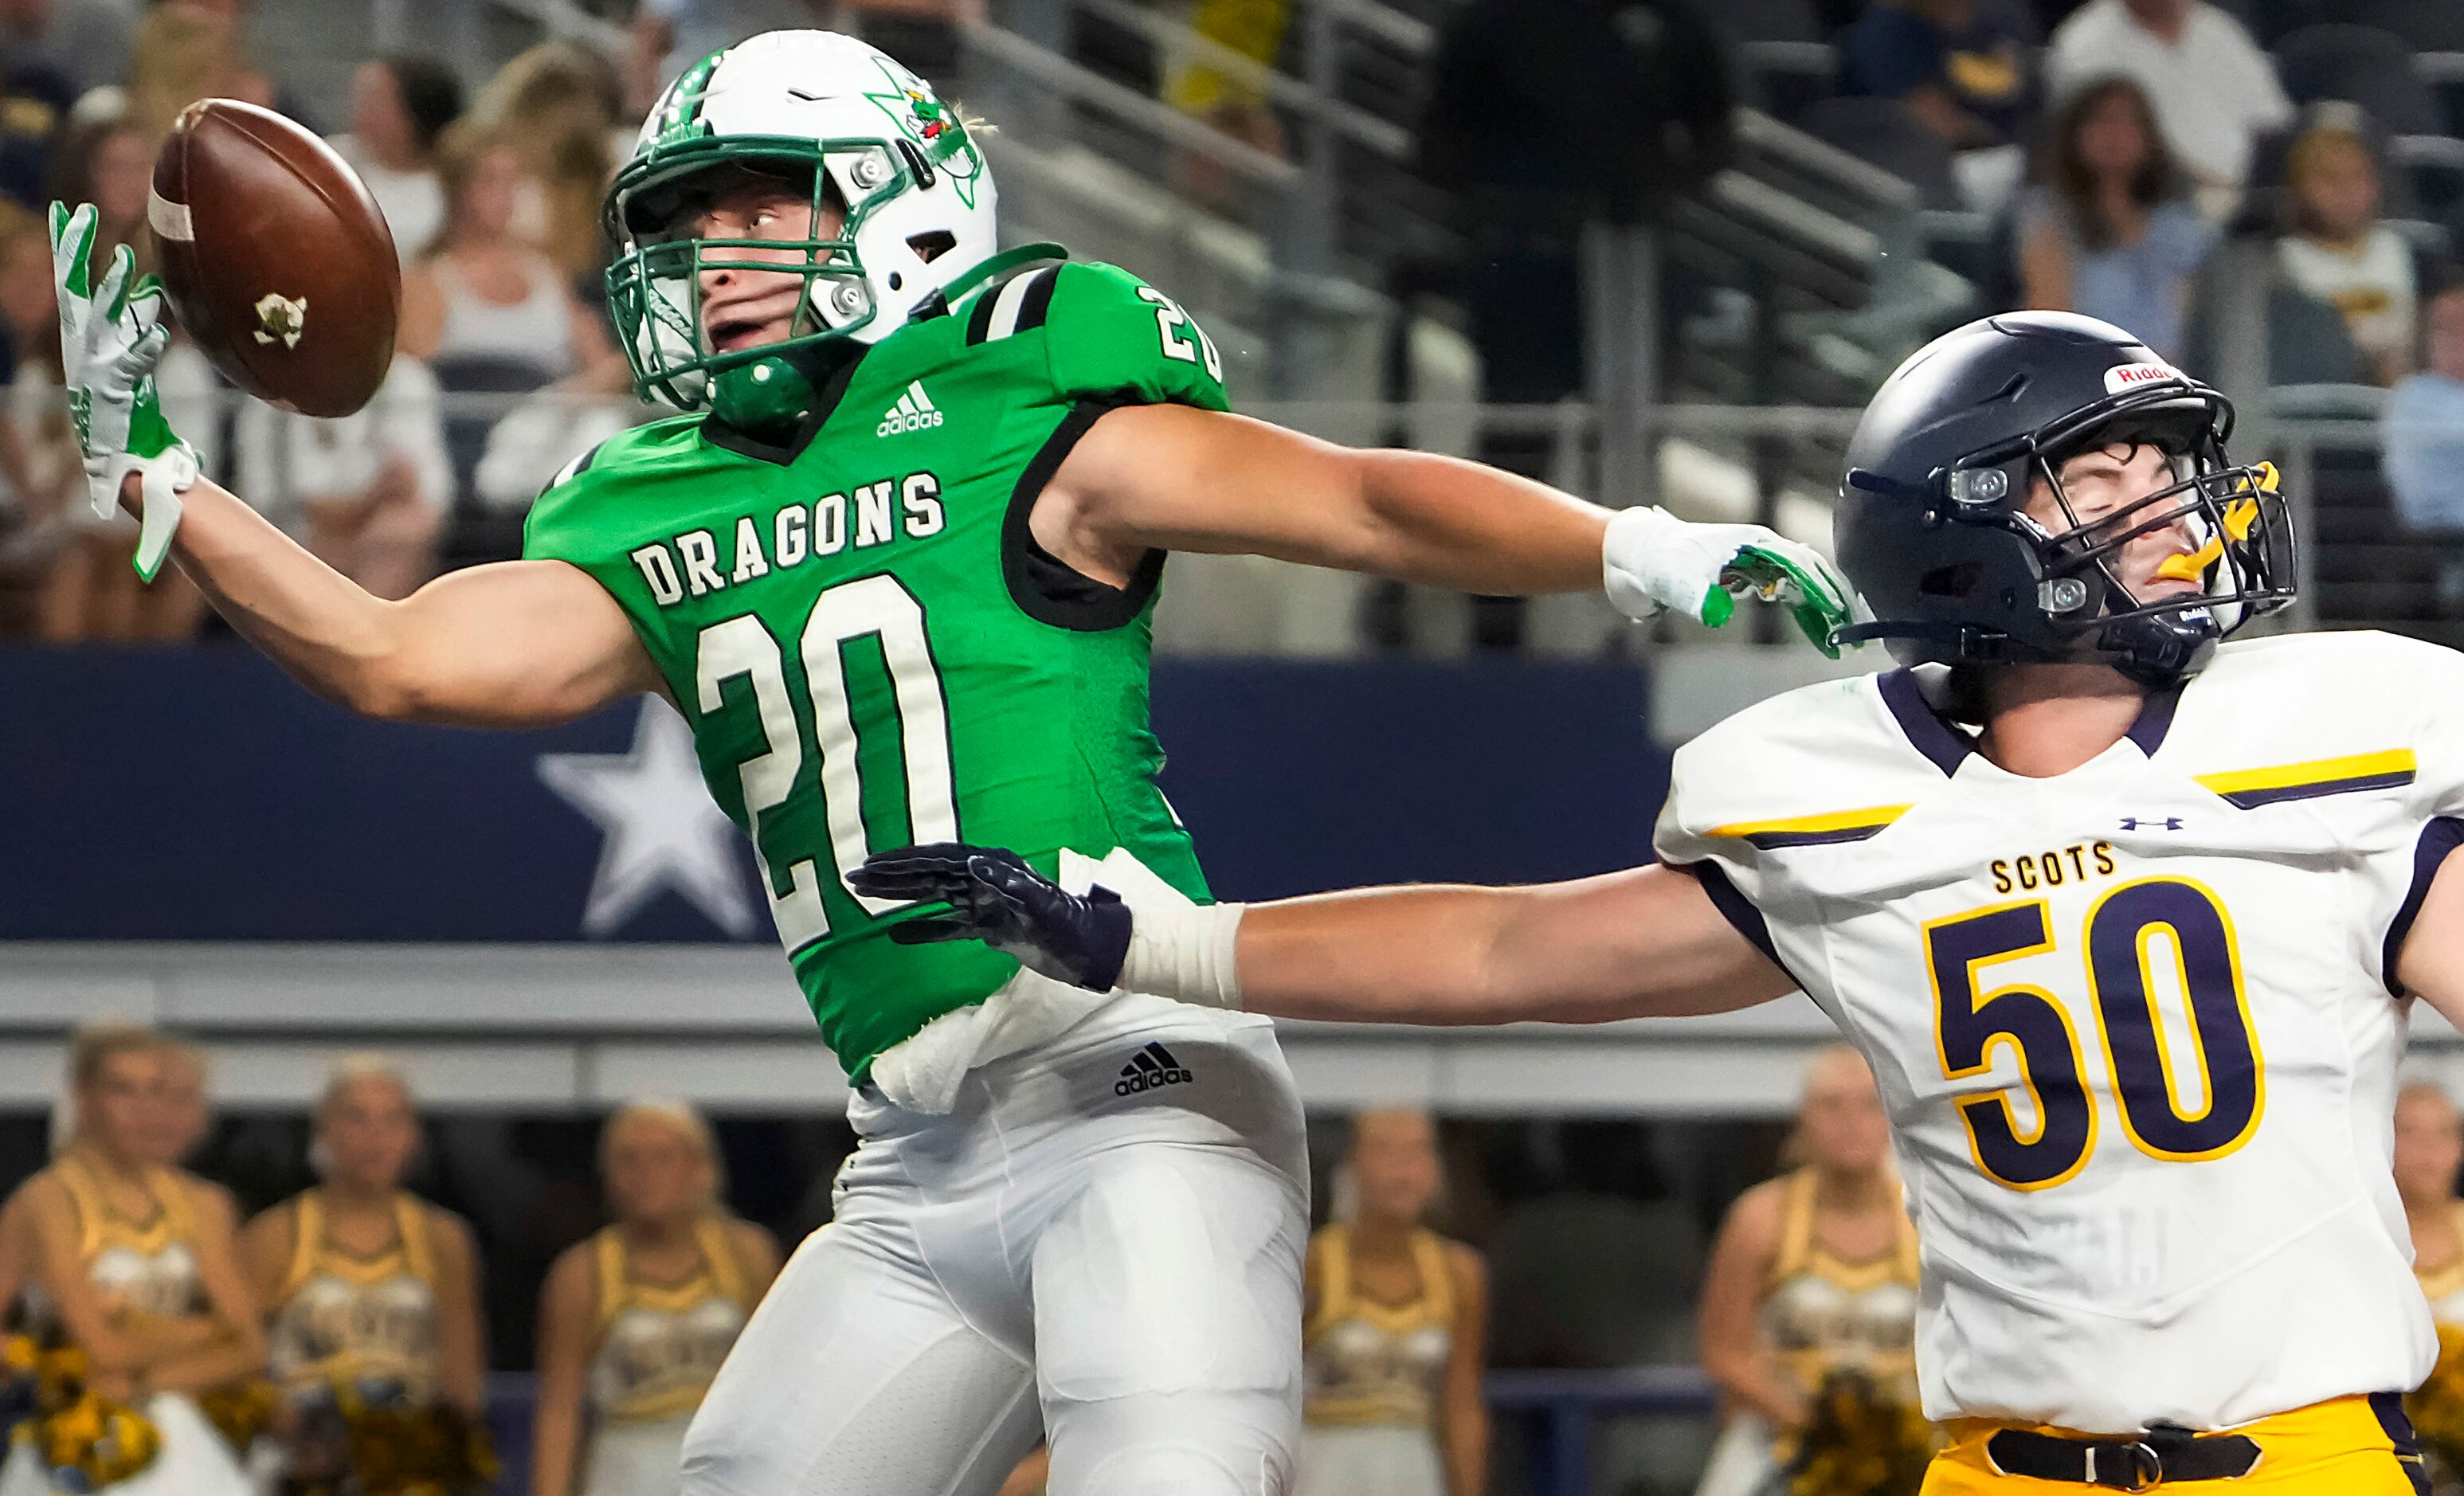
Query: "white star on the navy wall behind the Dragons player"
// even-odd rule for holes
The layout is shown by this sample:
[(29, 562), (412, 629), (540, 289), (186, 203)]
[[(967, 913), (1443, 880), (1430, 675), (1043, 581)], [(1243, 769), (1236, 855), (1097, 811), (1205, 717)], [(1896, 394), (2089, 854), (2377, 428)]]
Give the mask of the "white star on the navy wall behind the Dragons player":
[(631, 752), (540, 754), (540, 779), (606, 835), (582, 934), (616, 934), (660, 890), (732, 937), (754, 932), (742, 838), (702, 786), (692, 727), (665, 700), (643, 697)]

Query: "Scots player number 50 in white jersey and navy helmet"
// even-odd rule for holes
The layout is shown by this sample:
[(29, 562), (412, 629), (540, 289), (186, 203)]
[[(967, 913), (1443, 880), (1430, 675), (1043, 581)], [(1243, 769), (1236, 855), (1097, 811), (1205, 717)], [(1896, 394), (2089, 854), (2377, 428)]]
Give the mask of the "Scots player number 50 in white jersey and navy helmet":
[[(1653, 868), (1168, 909), (914, 848), (899, 939), (1259, 1013), (1589, 1023), (1804, 988), (1865, 1052), (1922, 1245), (1927, 1496), (2425, 1491), (2390, 1178), (2410, 998), (2464, 1018), (2464, 658), (2220, 643), (2292, 596), (2274, 473), (2119, 328), (1939, 338), (1838, 550), (1900, 670), (1676, 754)], [(2464, 868), (2464, 863), (2459, 863)]]

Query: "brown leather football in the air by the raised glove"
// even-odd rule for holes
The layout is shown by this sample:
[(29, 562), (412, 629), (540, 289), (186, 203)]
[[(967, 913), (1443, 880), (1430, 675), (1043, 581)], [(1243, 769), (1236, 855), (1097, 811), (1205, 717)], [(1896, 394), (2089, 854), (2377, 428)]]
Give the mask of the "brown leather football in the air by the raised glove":
[(172, 315), (249, 394), (347, 417), (394, 360), (402, 269), (330, 145), (254, 104), (180, 111), (145, 202)]

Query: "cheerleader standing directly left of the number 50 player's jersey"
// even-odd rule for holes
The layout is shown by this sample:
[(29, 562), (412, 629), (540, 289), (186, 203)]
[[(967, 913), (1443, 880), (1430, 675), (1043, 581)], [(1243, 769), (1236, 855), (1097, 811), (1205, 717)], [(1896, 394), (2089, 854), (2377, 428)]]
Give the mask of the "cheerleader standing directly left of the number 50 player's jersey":
[(1796, 1168), (1737, 1195), (1712, 1242), (1703, 1370), (1727, 1427), (1695, 1496), (1769, 1489), (1774, 1442), (1796, 1444), (1836, 1390), (1917, 1400), (1917, 1232), (1873, 1072), (1848, 1045), (1806, 1070), (1784, 1156)]

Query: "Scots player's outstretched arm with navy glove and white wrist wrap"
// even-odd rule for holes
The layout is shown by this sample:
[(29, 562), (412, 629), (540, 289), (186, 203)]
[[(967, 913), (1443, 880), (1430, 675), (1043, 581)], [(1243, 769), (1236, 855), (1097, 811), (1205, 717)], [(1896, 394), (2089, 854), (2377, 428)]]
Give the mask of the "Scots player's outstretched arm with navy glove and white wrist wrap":
[(1382, 887), (1271, 905), (1062, 892), (1013, 853), (877, 853), (850, 887), (951, 905), (890, 939), (983, 939), (1037, 971), (1276, 1018), (1607, 1023), (1749, 1008), (1794, 981), (1673, 868), (1533, 887)]

